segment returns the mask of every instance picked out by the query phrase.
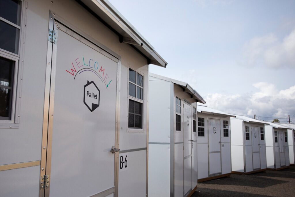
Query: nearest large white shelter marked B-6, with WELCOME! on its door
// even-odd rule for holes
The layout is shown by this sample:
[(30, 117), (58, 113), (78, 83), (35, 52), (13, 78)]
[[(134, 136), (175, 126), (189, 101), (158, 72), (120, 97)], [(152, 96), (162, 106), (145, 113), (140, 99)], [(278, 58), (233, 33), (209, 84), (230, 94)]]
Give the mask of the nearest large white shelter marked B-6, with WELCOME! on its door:
[(148, 196), (149, 64), (107, 0), (1, 0), (0, 196)]

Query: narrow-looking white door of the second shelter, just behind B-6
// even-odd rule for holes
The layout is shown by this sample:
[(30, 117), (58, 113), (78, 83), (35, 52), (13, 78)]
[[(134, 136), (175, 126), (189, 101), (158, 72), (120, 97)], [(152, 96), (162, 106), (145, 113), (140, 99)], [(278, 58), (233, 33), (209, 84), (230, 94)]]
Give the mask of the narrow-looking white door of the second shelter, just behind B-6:
[(192, 169), (191, 169), (191, 127), (192, 127), (192, 117), (191, 117), (191, 106), (184, 103), (183, 112), (183, 145), (184, 145), (184, 194), (186, 194), (192, 188)]

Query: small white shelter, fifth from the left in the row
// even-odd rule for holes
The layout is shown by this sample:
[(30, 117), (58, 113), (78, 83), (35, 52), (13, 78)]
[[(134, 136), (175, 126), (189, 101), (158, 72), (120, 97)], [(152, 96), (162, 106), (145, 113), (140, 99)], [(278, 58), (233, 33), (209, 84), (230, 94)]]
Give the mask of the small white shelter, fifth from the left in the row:
[(269, 122), (265, 126), (267, 168), (281, 170), (290, 165), (288, 129), (283, 124)]

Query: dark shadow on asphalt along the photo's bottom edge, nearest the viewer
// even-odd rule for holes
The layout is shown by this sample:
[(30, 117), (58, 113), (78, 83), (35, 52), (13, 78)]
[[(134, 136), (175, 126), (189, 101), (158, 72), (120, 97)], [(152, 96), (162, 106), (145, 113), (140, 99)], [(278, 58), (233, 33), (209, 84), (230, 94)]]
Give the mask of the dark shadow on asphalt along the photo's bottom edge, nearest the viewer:
[(192, 197), (203, 197), (203, 196), (247, 196), (247, 197), (256, 197), (256, 196), (264, 196), (258, 194), (251, 194), (245, 192), (237, 192), (237, 191), (224, 191), (218, 189), (208, 189), (208, 188), (197, 188), (192, 195)]

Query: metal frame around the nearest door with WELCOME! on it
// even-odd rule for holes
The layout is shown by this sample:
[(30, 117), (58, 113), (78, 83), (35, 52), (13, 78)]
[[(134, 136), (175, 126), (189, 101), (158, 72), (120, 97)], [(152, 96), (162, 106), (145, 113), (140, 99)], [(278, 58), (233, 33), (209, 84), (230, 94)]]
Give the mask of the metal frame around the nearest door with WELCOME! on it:
[[(94, 50), (102, 53), (110, 59), (117, 62), (117, 90), (116, 90), (116, 125), (115, 125), (115, 139), (114, 146), (119, 148), (119, 114), (120, 114), (120, 76), (121, 76), (121, 57), (115, 52), (109, 50), (107, 47), (88, 36), (75, 26), (66, 22), (62, 17), (49, 10), (48, 18), (48, 32), (49, 29), (54, 29), (58, 33), (58, 29), (65, 28), (71, 31), (73, 37), (84, 43), (85, 45), (96, 48)], [(79, 33), (78, 33), (79, 32)], [(68, 33), (69, 34), (69, 33)], [(47, 35), (48, 36), (48, 35)], [(57, 44), (53, 44), (47, 40), (47, 61), (46, 61), (46, 75), (45, 75), (45, 95), (44, 95), (44, 113), (43, 113), (43, 128), (42, 128), (42, 147), (41, 147), (41, 165), (40, 165), (40, 182), (39, 182), (39, 197), (49, 197), (50, 192), (50, 170), (51, 170), (51, 150), (52, 150), (52, 132), (53, 132), (53, 112), (54, 112), (54, 89), (55, 89), (55, 69)], [(111, 147), (110, 147), (111, 148)], [(99, 194), (114, 193), (118, 196), (119, 183), (119, 152), (114, 153), (114, 189), (107, 189)], [(41, 189), (42, 177), (49, 176), (48, 188)], [(107, 192), (107, 193), (106, 193)]]

